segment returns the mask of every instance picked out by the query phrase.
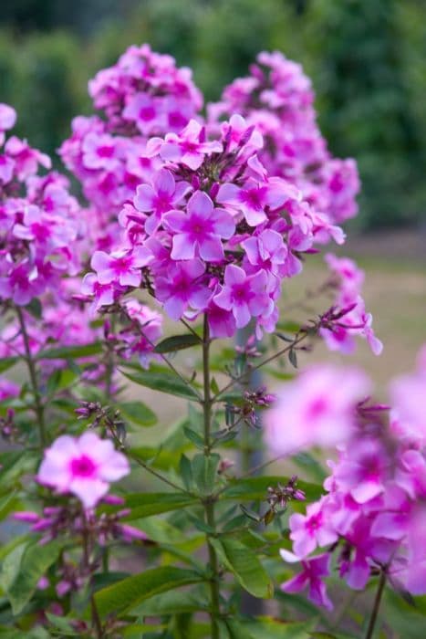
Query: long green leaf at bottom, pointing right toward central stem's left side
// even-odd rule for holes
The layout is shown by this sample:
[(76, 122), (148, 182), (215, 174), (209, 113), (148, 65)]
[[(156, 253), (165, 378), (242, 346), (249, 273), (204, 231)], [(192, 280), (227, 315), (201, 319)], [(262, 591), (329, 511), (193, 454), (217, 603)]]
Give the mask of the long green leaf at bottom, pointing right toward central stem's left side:
[(126, 613), (138, 603), (160, 592), (171, 591), (203, 579), (195, 571), (161, 566), (127, 577), (95, 594), (100, 617), (110, 613)]

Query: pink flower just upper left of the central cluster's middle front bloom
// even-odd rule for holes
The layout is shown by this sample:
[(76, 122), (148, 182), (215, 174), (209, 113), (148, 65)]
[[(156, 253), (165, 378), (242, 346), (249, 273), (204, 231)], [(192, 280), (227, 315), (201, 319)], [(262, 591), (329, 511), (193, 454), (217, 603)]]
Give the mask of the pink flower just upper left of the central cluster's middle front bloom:
[(143, 213), (151, 213), (145, 223), (146, 232), (151, 235), (161, 224), (161, 216), (176, 208), (191, 190), (187, 182), (175, 182), (167, 169), (154, 173), (151, 184), (140, 184), (133, 198), (133, 204)]

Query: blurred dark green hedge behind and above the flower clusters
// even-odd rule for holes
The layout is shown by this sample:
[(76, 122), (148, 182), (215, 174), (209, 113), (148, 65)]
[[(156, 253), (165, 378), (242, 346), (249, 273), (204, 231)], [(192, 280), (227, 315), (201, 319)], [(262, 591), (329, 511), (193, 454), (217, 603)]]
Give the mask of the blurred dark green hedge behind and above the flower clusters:
[(130, 44), (193, 68), (206, 100), (263, 49), (304, 65), (330, 149), (358, 160), (364, 229), (426, 225), (424, 0), (2, 0), (0, 101), (54, 153), (87, 81)]

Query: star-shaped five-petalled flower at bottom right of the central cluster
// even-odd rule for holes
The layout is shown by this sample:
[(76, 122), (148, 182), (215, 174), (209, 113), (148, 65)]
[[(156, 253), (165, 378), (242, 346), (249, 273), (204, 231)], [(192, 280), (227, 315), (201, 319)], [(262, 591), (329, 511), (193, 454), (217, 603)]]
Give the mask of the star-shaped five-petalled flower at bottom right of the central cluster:
[(250, 319), (270, 315), (273, 302), (266, 293), (267, 277), (264, 270), (248, 276), (243, 268), (230, 264), (225, 268), (223, 288), (214, 296), (214, 303), (232, 310), (236, 327), (242, 329)]

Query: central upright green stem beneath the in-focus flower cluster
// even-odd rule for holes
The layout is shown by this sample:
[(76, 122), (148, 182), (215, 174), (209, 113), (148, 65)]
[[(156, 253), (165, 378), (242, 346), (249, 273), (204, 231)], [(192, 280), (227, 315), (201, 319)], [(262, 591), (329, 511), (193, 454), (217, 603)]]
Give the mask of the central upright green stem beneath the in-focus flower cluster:
[[(212, 397), (210, 393), (210, 333), (207, 315), (204, 314), (203, 327), (203, 422), (204, 422), (204, 456), (210, 456), (212, 452)], [(214, 498), (206, 498), (203, 500), (205, 511), (205, 520), (209, 528), (216, 528), (214, 518)], [(214, 534), (214, 533), (213, 533)], [(218, 619), (221, 614), (219, 599), (219, 565), (216, 551), (210, 540), (210, 534), (207, 534), (207, 547), (209, 551), (209, 563), (212, 571), (210, 580), (210, 598), (211, 598), (211, 637), (219, 639)]]

